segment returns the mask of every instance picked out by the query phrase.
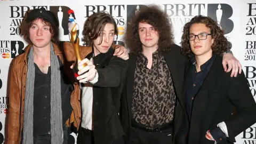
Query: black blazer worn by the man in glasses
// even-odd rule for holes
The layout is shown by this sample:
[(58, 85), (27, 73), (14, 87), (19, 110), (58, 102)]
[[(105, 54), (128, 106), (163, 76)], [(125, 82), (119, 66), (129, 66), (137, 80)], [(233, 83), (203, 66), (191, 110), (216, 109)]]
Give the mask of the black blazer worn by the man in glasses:
[[(186, 65), (186, 79), (191, 74), (191, 66), (191, 62)], [(227, 141), (221, 143), (233, 143), (236, 135), (256, 122), (256, 104), (244, 73), (237, 77), (230, 77), (230, 73), (224, 71), (222, 58), (217, 55), (194, 97), (190, 128), (187, 129), (189, 144), (213, 144), (214, 141), (207, 140), (205, 134), (220, 122), (226, 123), (229, 135)], [(184, 87), (185, 97), (186, 84)]]

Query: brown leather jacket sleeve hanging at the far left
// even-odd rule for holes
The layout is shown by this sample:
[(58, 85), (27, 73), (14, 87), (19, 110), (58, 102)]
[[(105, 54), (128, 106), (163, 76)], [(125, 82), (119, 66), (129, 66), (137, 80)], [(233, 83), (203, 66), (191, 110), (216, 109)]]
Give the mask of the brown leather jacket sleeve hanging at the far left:
[(20, 135), (20, 93), (17, 78), (17, 69), (15, 60), (11, 63), (11, 74), (10, 74), (10, 90), (9, 90), (9, 118), (8, 118), (8, 134), (7, 144), (19, 143)]

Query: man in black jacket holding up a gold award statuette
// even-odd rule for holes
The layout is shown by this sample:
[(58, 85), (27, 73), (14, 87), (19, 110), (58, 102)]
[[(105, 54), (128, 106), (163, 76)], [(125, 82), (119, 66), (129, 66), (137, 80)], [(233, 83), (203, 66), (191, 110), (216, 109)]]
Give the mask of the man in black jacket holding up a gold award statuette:
[[(69, 12), (71, 18), (74, 11)], [(111, 45), (118, 35), (116, 22), (104, 12), (87, 18), (83, 29), (83, 42), (87, 46), (79, 46), (77, 23), (70, 20), (69, 26), (71, 43), (65, 43), (64, 49), (67, 60), (74, 63), (71, 68), (79, 81), (75, 89), (82, 86), (81, 99), (71, 97), (71, 105), (74, 102), (78, 106), (74, 111), (78, 119), (76, 126), (79, 126), (77, 143), (122, 144), (124, 132), (119, 121), (119, 101), (128, 67), (124, 59), (128, 55), (123, 59), (113, 56)]]

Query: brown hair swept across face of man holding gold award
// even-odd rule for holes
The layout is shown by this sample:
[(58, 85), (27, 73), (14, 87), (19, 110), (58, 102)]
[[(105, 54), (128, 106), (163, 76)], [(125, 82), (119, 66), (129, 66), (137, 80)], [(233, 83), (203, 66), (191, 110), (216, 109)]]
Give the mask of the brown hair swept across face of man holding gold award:
[[(90, 15), (89, 18), (86, 19), (84, 23), (83, 29), (83, 38), (82, 41), (86, 46), (93, 46), (93, 40), (97, 39), (101, 36), (102, 31), (107, 23), (114, 25), (114, 33), (116, 35), (116, 39), (118, 36), (118, 29), (114, 18), (105, 12), (97, 12)], [(102, 36), (100, 39), (99, 45), (102, 43)]]

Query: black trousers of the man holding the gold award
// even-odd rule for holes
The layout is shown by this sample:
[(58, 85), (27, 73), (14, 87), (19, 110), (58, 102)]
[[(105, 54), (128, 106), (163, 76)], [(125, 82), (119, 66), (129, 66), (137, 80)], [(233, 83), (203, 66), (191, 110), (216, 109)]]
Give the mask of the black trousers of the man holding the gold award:
[[(94, 144), (94, 135), (93, 131), (84, 129), (83, 127), (80, 126), (78, 130), (78, 135), (77, 135), (77, 144)], [(124, 144), (124, 139), (119, 138), (118, 140), (113, 141), (111, 144)]]

